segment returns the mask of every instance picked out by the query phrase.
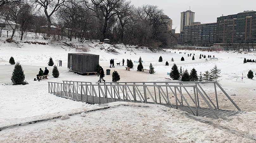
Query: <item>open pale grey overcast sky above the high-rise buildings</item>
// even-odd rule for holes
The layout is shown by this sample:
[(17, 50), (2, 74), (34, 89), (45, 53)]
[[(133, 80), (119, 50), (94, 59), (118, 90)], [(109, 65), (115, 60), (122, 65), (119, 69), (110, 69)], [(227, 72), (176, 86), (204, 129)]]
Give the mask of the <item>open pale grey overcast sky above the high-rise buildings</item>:
[(189, 10), (189, 6), (195, 12), (195, 22), (201, 23), (217, 22), (217, 17), (221, 14), (225, 16), (244, 10), (256, 11), (256, 0), (131, 0), (131, 4), (135, 7), (144, 4), (157, 5), (172, 19), (172, 29), (176, 27), (176, 33), (180, 32), (181, 12)]

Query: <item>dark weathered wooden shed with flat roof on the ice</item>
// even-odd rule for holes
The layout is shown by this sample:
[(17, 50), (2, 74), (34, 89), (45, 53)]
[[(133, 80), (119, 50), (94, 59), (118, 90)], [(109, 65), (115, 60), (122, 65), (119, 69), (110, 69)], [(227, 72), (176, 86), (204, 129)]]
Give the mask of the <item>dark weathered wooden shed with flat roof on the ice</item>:
[(99, 64), (99, 55), (86, 53), (68, 53), (67, 67), (79, 74), (96, 72)]

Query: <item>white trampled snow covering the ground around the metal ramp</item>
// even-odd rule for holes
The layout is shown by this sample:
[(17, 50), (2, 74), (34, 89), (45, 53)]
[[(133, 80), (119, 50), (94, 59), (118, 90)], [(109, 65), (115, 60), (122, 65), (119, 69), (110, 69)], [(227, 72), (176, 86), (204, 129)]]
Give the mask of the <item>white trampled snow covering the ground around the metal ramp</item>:
[[(170, 81), (173, 63), (182, 69), (195, 68), (197, 74), (204, 73), (217, 66), (221, 69), (219, 83), (228, 95), (240, 107), (243, 114), (230, 117), (228, 120), (214, 120), (206, 117), (189, 116), (185, 112), (170, 109), (160, 105), (116, 102), (107, 105), (89, 105), (82, 102), (67, 100), (48, 93), (48, 81), (62, 82), (63, 80), (97, 82), (97, 76), (81, 76), (67, 69), (67, 54), (78, 53), (82, 50), (67, 47), (61, 43), (53, 43), (38, 39), (25, 39), (42, 44), (20, 43), (18, 48), (14, 43), (4, 43), (0, 38), (0, 127), (6, 124), (28, 122), (31, 118), (47, 118), (55, 114), (70, 114), (75, 111), (91, 110), (109, 106), (104, 110), (86, 112), (86, 116), (74, 114), (69, 119), (56, 118), (48, 121), (18, 126), (0, 131), (0, 142), (256, 142), (256, 82), (248, 79), (247, 73), (251, 69), (255, 76), (256, 64), (243, 64), (243, 59), (256, 60), (255, 52), (226, 52), (226, 51), (195, 51), (172, 50), (151, 52), (146, 48), (135, 46), (84, 43), (89, 54), (99, 54), (99, 64), (111, 69), (111, 75), (106, 75), (106, 82), (112, 80), (112, 72), (116, 70), (120, 75), (120, 82), (139, 81)], [(67, 42), (69, 43), (69, 42)], [(82, 45), (81, 43), (73, 43)], [(115, 49), (117, 53), (108, 53), (108, 49)], [(175, 53), (176, 52), (176, 53)], [(179, 52), (182, 52), (179, 54)], [(187, 54), (192, 53), (191, 57)], [(195, 54), (195, 60), (192, 56)], [(199, 55), (211, 55), (218, 60), (199, 59)], [(9, 64), (13, 56), (20, 62), (27, 85), (12, 85), (11, 74), (14, 65)], [(163, 62), (158, 62), (159, 56)], [(185, 61), (180, 61), (181, 57)], [(60, 77), (49, 76), (48, 80), (34, 81), (39, 68), (48, 67), (51, 75), (52, 67), (48, 60), (52, 57), (57, 64), (62, 60), (62, 67), (58, 67)], [(125, 66), (109, 68), (109, 61), (115, 63), (122, 59), (143, 60), (145, 69), (152, 63), (155, 74), (137, 72), (138, 63), (134, 69), (125, 70)], [(174, 62), (171, 62), (171, 58)], [(168, 61), (170, 66), (164, 66)], [(244, 79), (242, 80), (242, 73)], [(227, 98), (226, 98), (227, 99)], [(222, 109), (233, 109), (225, 98), (219, 100)], [(232, 107), (231, 107), (232, 106)]]

